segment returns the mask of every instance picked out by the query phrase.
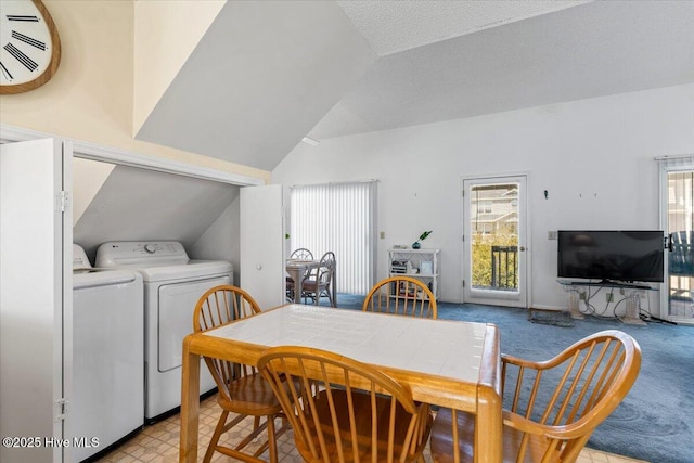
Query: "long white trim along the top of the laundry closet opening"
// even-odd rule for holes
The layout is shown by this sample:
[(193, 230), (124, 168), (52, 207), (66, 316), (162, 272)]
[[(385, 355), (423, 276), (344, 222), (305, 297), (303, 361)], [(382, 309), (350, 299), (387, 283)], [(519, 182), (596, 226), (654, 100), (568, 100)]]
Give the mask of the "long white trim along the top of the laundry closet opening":
[(178, 160), (164, 159), (155, 156), (145, 156), (138, 153), (128, 152), (115, 147), (107, 147), (94, 143), (68, 139), (36, 130), (0, 124), (0, 142), (28, 141), (42, 138), (57, 138), (73, 142), (73, 154), (92, 160), (101, 160), (124, 166), (140, 167), (143, 169), (156, 170), (159, 172), (174, 173), (178, 176), (193, 177), (203, 180), (211, 180), (219, 183), (229, 183), (240, 187), (261, 185), (261, 179), (239, 173), (224, 172), (222, 170), (196, 166), (194, 164), (181, 163)]

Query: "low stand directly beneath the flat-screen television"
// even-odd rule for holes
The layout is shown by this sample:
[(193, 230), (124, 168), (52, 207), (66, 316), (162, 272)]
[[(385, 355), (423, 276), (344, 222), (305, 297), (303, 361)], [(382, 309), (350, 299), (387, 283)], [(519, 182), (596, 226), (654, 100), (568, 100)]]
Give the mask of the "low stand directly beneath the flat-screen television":
[[(646, 291), (657, 291), (657, 288), (633, 283), (620, 283), (613, 281), (601, 282), (588, 282), (588, 281), (567, 281), (558, 280), (565, 292), (568, 293), (568, 311), (574, 319), (583, 319), (584, 316), (580, 311), (580, 301), (584, 300), (586, 306), (590, 303), (586, 300), (586, 288), (591, 286), (601, 287), (617, 287), (625, 296), (626, 313), (622, 317), (618, 317), (622, 323), (645, 325), (646, 322), (641, 320), (639, 313), (641, 312), (641, 299), (646, 297)], [(581, 297), (582, 295), (582, 297)]]

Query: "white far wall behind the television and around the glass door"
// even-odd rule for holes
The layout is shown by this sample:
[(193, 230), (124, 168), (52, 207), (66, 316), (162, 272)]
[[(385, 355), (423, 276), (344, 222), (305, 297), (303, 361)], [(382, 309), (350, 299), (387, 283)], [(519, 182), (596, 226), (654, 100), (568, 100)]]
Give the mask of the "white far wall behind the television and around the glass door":
[[(531, 307), (566, 307), (556, 242), (570, 228), (658, 229), (654, 156), (694, 152), (694, 85), (300, 143), (273, 183), (376, 178), (377, 278), (386, 248), (433, 230), (441, 248), (441, 299), (460, 301), (463, 177), (527, 172)], [(543, 191), (548, 190), (545, 200)], [(657, 296), (650, 301), (657, 312)]]

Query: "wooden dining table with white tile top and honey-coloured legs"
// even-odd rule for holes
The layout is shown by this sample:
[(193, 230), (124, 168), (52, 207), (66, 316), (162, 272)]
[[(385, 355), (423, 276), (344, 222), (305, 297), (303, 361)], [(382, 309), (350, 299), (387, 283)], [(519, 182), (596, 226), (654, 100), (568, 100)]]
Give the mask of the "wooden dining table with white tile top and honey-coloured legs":
[(475, 414), (475, 461), (502, 461), (500, 334), (493, 324), (288, 304), (183, 340), (180, 462), (197, 461), (200, 357), (256, 365), (307, 346), (378, 368), (414, 400)]

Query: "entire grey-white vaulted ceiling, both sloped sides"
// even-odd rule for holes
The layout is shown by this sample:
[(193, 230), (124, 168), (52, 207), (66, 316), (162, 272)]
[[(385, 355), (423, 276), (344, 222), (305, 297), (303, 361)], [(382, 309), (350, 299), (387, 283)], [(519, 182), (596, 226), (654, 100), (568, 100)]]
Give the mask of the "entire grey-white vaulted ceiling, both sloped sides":
[(316, 140), (694, 81), (694, 2), (228, 1), (137, 134), (272, 170)]

